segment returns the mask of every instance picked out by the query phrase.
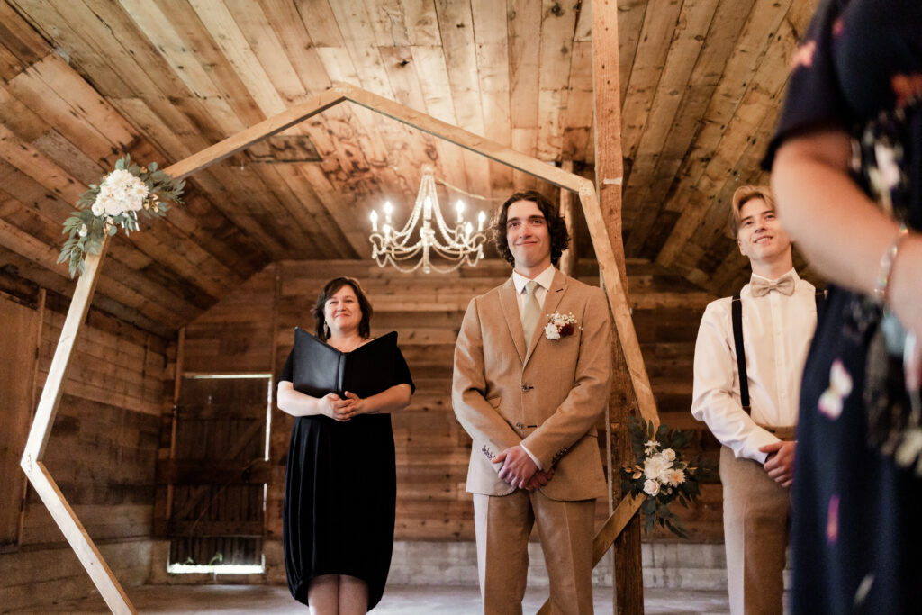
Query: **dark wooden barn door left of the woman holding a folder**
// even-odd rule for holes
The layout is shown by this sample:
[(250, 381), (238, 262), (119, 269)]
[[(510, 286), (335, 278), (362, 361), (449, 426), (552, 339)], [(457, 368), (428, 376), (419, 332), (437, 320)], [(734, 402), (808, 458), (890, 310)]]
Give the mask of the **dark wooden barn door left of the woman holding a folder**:
[(266, 516), (268, 375), (183, 377), (172, 459), (170, 563), (261, 565)]

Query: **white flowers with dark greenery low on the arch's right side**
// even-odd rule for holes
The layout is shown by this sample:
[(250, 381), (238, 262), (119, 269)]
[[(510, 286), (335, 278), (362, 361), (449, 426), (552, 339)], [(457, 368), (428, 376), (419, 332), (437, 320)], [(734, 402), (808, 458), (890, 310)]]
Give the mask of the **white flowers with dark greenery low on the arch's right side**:
[(677, 536), (688, 538), (679, 518), (669, 511), (669, 503), (679, 500), (683, 506), (700, 495), (698, 479), (707, 468), (691, 467), (682, 459), (681, 448), (691, 442), (691, 432), (670, 430), (631, 417), (628, 426), (636, 458), (632, 466), (621, 467), (621, 489), (635, 497), (646, 496), (641, 504), (644, 530), (651, 531), (658, 522)]

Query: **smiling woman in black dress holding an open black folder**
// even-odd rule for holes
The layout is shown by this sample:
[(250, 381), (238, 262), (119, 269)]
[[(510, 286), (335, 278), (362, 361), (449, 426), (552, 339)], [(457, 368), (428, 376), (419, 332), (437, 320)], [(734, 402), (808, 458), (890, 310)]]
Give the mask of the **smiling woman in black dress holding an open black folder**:
[(296, 329), (278, 376), (278, 408), (295, 417), (285, 569), (291, 595), (316, 612), (364, 613), (381, 600), (394, 545), (389, 413), (415, 387), (396, 332), (372, 339), (372, 304), (357, 280), (327, 282), (313, 317), (315, 335)]

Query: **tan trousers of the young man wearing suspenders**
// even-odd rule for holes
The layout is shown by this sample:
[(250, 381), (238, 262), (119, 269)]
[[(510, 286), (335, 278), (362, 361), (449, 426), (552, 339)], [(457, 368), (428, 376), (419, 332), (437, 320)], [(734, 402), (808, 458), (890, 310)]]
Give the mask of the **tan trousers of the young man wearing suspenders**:
[(727, 446), (720, 449), (720, 480), (730, 613), (781, 615), (790, 490), (769, 478), (762, 464), (734, 457)]

